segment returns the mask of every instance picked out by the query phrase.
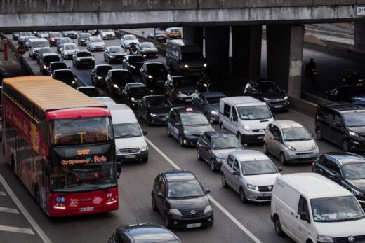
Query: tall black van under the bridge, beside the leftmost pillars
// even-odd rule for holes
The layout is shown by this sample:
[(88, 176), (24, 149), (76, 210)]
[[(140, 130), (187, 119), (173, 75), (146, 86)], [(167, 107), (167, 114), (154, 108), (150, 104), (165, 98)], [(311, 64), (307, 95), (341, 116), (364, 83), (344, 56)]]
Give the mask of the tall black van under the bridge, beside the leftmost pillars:
[(199, 76), (206, 69), (206, 59), (197, 44), (187, 40), (173, 40), (166, 44), (166, 66), (175, 74)]

